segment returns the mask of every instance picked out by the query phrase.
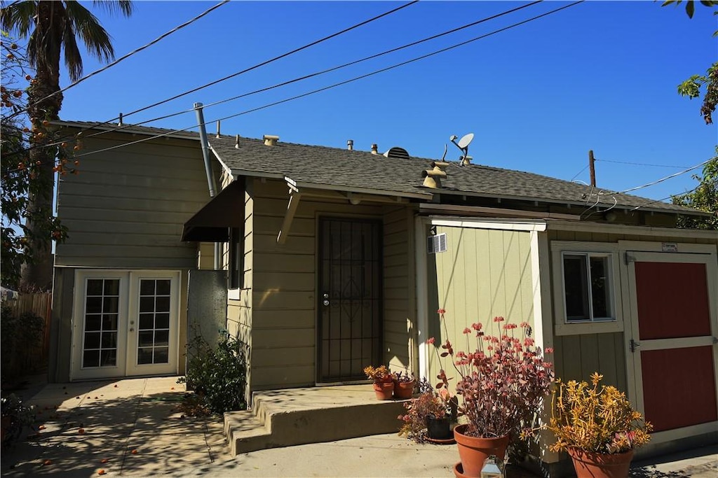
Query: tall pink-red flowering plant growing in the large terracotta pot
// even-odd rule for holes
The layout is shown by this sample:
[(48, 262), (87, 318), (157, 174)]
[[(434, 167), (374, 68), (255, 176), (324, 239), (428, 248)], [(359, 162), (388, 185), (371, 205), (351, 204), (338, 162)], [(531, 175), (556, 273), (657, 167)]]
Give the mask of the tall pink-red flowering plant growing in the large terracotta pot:
[[(444, 322), (446, 311), (438, 312)], [(494, 322), (503, 321), (503, 317), (494, 317)], [(507, 323), (503, 325), (505, 333), (495, 337), (485, 335), (482, 325), (474, 323), (464, 330), (467, 345), (469, 335), (475, 338), (473, 352), (454, 353), (448, 339), (442, 345), (444, 352), (439, 354), (437, 349), (439, 360), (450, 357), (460, 375), (456, 393), (462, 397), (459, 412), (467, 418), (467, 435), (484, 438), (518, 435), (522, 426), (536, 418), (542, 399), (549, 393), (554, 380), (552, 364), (544, 361), (541, 349), (528, 337), (528, 323), (521, 323), (523, 339), (513, 336), (518, 327)], [(427, 342), (434, 343), (434, 338)], [(546, 353), (552, 351), (546, 348)], [(448, 386), (449, 378), (443, 369), (437, 378), (440, 381), (437, 388)]]

